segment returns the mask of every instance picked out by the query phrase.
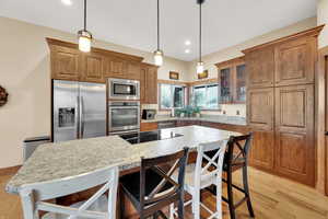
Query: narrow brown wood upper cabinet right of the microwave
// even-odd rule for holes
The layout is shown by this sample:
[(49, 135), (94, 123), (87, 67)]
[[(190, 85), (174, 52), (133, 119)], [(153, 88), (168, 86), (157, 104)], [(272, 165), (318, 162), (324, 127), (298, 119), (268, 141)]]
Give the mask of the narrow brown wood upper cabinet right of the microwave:
[(140, 100), (142, 104), (157, 104), (157, 66), (142, 64), (140, 70)]

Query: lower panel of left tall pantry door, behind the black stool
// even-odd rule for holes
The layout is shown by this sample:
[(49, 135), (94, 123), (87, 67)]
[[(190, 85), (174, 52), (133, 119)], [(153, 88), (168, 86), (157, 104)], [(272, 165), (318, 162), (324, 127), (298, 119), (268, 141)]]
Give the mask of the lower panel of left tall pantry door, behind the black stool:
[(271, 130), (255, 130), (253, 134), (249, 165), (272, 173), (274, 166), (274, 132)]

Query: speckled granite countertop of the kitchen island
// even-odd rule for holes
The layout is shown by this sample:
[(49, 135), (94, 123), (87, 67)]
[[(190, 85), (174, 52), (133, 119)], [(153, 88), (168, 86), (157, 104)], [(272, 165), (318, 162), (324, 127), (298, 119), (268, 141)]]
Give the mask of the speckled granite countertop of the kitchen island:
[(188, 126), (165, 129), (181, 137), (130, 145), (118, 136), (46, 143), (37, 148), (16, 175), (7, 184), (7, 192), (17, 194), (25, 184), (60, 180), (93, 172), (102, 168), (119, 166), (120, 171), (140, 166), (140, 158), (165, 155), (199, 143), (226, 143), (230, 136), (241, 134)]

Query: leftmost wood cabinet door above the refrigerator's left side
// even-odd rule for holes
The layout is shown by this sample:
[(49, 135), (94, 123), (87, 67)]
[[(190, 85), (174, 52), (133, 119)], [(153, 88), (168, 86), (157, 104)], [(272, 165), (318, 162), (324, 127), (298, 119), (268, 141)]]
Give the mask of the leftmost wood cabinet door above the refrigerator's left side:
[(82, 55), (72, 48), (51, 46), (51, 78), (79, 81)]

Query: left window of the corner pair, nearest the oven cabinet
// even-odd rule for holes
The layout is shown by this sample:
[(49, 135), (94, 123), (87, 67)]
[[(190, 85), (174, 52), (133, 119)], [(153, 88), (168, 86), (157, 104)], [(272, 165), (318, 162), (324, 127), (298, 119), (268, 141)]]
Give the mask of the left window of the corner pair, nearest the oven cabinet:
[(185, 106), (186, 88), (175, 84), (160, 84), (161, 110), (180, 108)]

